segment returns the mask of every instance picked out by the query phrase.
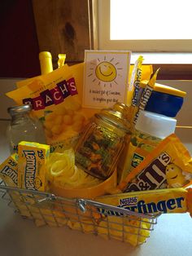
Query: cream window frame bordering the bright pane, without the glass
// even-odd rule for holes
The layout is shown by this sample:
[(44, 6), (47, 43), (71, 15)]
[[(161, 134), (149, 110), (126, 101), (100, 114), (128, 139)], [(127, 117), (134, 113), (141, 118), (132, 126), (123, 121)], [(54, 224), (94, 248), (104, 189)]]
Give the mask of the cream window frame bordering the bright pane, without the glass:
[[(97, 0), (98, 2), (98, 47), (101, 50), (130, 50), (133, 52), (192, 52), (192, 39), (170, 40), (110, 40), (110, 1)], [(129, 10), (128, 10), (129, 15)], [(136, 11), (137, 18), (137, 11)], [(144, 18), (144, 17), (143, 17)], [(141, 19), (142, 24), (142, 17)], [(151, 20), (152, 22), (152, 20)], [(134, 20), (131, 23), (134, 26)], [(129, 29), (129, 26), (128, 26)], [(137, 28), (135, 28), (137, 29)], [(146, 28), (147, 29), (147, 28)], [(150, 24), (149, 24), (149, 28)], [(151, 31), (152, 33), (152, 31)], [(147, 43), (146, 43), (147, 42)]]

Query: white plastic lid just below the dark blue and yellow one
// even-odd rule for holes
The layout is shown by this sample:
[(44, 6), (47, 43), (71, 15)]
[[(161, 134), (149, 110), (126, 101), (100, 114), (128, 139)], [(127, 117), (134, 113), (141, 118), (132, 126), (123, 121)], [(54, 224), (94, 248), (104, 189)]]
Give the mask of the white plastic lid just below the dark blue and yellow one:
[(157, 113), (141, 110), (135, 125), (136, 130), (164, 139), (174, 133), (177, 120)]

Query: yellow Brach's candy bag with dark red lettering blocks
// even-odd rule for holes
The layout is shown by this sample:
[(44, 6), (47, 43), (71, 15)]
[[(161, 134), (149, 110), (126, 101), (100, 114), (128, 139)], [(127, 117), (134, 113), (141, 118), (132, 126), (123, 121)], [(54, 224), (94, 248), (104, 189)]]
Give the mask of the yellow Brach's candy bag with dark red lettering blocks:
[(32, 104), (33, 115), (43, 122), (49, 144), (65, 142), (70, 147), (85, 126), (87, 115), (92, 115), (81, 108), (83, 68), (84, 64), (63, 65), (7, 93), (16, 104)]

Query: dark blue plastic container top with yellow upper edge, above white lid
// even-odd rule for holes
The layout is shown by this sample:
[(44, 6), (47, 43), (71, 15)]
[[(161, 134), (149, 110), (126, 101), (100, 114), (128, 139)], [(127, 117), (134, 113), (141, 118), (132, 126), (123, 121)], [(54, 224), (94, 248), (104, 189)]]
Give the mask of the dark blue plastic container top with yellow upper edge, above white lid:
[[(142, 86), (145, 86), (146, 83), (142, 82)], [(185, 91), (155, 83), (145, 110), (167, 117), (176, 117), (182, 107), (185, 95)]]

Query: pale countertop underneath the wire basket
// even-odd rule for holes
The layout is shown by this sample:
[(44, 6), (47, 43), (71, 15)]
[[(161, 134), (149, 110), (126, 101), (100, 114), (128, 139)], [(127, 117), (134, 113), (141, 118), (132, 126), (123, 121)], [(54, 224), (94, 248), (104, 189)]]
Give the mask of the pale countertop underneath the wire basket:
[[(5, 130), (0, 121), (0, 160), (9, 156)], [(187, 144), (191, 149), (191, 144)], [(189, 214), (162, 214), (145, 244), (133, 247), (115, 240), (70, 230), (68, 227), (36, 227), (15, 214), (0, 199), (1, 256), (190, 256), (192, 255), (192, 218)]]

